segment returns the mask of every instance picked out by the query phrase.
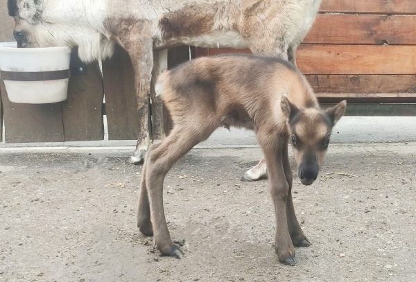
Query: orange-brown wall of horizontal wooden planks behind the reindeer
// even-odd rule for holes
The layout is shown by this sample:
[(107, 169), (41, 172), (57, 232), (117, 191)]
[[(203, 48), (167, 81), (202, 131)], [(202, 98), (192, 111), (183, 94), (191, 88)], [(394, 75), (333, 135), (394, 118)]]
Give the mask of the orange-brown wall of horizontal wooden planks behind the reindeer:
[(296, 58), (320, 100), (415, 103), (416, 1), (322, 0)]

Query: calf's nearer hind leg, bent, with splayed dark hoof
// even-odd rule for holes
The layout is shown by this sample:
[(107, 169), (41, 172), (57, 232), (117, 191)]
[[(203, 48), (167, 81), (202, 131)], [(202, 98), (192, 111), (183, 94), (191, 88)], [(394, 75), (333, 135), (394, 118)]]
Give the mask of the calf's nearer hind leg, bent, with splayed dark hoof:
[(171, 240), (163, 207), (163, 182), (173, 164), (193, 146), (206, 139), (213, 130), (202, 124), (195, 127), (175, 125), (157, 148), (148, 152), (146, 159), (146, 186), (150, 200), (150, 219), (153, 225), (155, 246), (164, 256), (180, 258), (182, 251)]

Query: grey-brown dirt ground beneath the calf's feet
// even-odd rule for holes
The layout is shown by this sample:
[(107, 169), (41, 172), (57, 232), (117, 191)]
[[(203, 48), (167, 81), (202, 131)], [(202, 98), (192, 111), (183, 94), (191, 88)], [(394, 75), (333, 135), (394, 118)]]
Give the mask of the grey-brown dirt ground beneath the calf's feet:
[(129, 153), (1, 151), (0, 281), (416, 281), (415, 143), (331, 146), (315, 184), (295, 178), (313, 245), (294, 267), (275, 254), (267, 180), (240, 181), (259, 148), (192, 150), (168, 174), (181, 260), (136, 227)]

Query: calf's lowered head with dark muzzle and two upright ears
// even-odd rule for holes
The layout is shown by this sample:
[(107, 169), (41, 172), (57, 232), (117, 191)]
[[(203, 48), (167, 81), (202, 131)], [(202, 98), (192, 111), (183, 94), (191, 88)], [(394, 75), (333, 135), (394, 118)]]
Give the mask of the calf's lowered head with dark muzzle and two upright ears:
[(280, 105), (288, 122), (297, 176), (302, 184), (311, 185), (318, 177), (332, 127), (345, 113), (347, 102), (344, 100), (324, 111), (316, 107), (298, 108), (282, 96)]

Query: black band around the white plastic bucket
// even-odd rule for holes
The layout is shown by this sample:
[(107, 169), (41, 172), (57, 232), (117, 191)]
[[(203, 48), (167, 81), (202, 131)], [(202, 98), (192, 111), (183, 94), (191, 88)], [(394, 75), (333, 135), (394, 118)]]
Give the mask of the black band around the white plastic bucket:
[(12, 81), (43, 81), (69, 78), (70, 71), (0, 71), (3, 80)]

